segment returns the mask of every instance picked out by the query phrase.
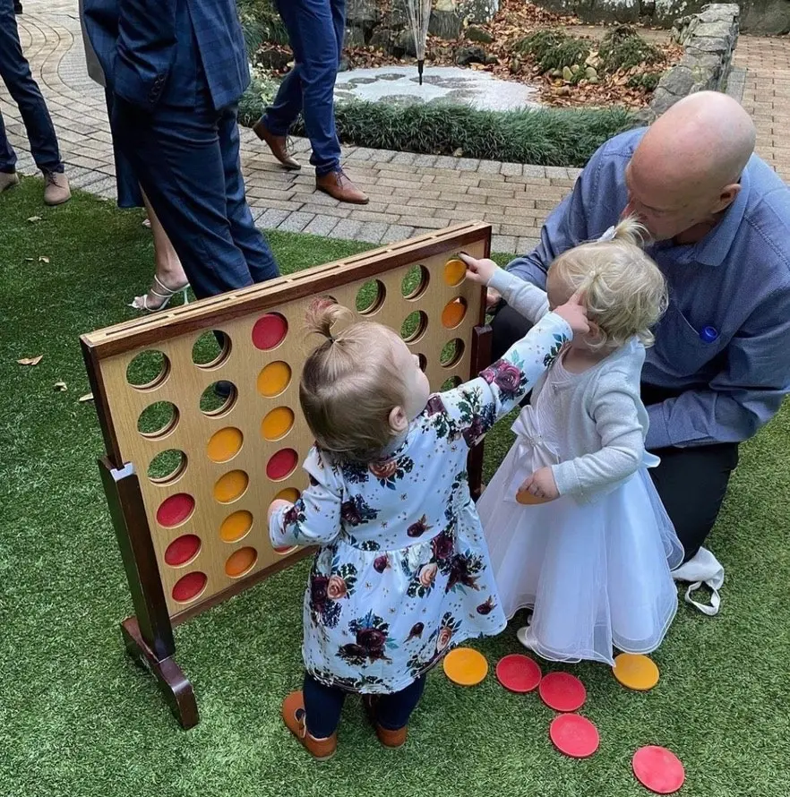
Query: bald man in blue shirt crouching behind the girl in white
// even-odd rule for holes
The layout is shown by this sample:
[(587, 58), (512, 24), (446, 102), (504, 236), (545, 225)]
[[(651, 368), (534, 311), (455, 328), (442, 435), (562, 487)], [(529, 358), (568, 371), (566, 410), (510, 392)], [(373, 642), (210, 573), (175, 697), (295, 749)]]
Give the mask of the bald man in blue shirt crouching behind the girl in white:
[[(545, 287), (557, 255), (623, 214), (648, 227), (670, 304), (642, 371), (647, 445), (661, 458), (651, 474), (686, 561), (713, 527), (738, 444), (790, 391), (790, 191), (753, 154), (754, 139), (734, 99), (692, 94), (597, 150), (537, 248), (508, 266)], [(494, 356), (526, 327), (500, 305)]]

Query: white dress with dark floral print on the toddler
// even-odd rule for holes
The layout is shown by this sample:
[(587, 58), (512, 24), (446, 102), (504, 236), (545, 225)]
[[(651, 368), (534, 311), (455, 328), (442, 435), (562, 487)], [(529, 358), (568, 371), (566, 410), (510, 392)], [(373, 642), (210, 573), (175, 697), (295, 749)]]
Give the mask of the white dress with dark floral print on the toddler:
[(318, 544), (305, 593), (305, 668), (331, 687), (405, 689), (465, 639), (506, 624), (467, 455), (516, 407), (571, 329), (555, 313), (477, 379), (434, 394), (387, 458), (313, 448), (310, 486), (270, 519), (271, 544)]

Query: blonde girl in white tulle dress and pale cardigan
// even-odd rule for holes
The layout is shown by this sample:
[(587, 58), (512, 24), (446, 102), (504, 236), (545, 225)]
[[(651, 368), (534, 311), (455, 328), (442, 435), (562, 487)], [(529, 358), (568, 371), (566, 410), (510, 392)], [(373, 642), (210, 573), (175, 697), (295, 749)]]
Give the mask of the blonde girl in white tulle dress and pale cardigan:
[(683, 561), (647, 468), (640, 373), (665, 280), (626, 219), (558, 257), (547, 293), (466, 258), (468, 279), (536, 322), (577, 290), (590, 332), (541, 377), (502, 466), (477, 503), (502, 609), (533, 609), (520, 642), (546, 659), (614, 664), (613, 648), (649, 653), (677, 609), (670, 569)]

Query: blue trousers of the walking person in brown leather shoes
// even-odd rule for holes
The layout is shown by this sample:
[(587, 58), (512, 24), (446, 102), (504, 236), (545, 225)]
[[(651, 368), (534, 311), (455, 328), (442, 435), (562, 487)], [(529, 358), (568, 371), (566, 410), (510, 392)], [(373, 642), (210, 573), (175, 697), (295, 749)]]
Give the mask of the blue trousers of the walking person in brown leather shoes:
[(294, 51), (294, 68), (286, 75), (274, 104), (262, 116), (271, 133), (287, 135), (301, 111), (318, 176), (339, 168), (340, 142), (335, 130), (334, 90), (343, 35), (346, 0), (277, 0)]

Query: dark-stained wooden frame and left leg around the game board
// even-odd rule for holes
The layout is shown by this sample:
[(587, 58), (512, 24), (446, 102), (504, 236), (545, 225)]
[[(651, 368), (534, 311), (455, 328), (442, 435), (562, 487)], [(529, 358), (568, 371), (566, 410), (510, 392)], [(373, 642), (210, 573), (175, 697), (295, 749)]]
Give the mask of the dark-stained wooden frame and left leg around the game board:
[[(133, 463), (124, 461), (113, 428), (102, 362), (135, 348), (154, 346), (187, 333), (216, 329), (223, 321), (231, 321), (242, 314), (266, 313), (277, 309), (280, 304), (306, 296), (329, 295), (333, 288), (337, 289), (340, 285), (360, 279), (372, 279), (409, 263), (446, 253), (451, 247), (458, 251), (470, 244), (477, 244), (477, 247), (482, 244), (483, 256), (490, 256), (490, 225), (475, 222), (448, 227), (405, 242), (382, 246), (340, 261), (82, 335), (82, 355), (107, 450), (107, 455), (99, 459), (99, 471), (133, 599), (134, 614), (121, 623), (125, 647), (135, 662), (154, 674), (160, 690), (183, 728), (193, 727), (198, 723), (199, 716), (192, 685), (175, 661), (173, 628), (312, 552), (311, 549), (305, 549), (290, 554), (288, 558), (250, 576), (239, 578), (231, 587), (201, 604), (186, 607), (171, 615), (159, 575), (159, 564), (142, 499), (139, 476)], [(485, 326), (484, 291), (485, 288), (481, 288), (480, 313), (473, 329), (468, 378), (479, 373), (491, 362), (491, 330)], [(469, 454), (469, 487), (475, 499), (480, 494), (482, 468), (481, 443)]]

